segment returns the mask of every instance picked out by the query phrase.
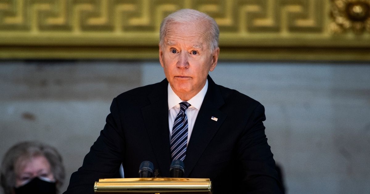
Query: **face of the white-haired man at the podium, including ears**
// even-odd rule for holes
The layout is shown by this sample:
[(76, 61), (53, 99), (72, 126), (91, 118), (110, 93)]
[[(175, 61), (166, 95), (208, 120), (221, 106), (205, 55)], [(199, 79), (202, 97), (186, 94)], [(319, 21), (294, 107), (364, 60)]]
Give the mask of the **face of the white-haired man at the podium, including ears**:
[(208, 24), (168, 25), (164, 45), (159, 45), (159, 61), (172, 90), (183, 101), (195, 96), (215, 69), (219, 48), (212, 53)]

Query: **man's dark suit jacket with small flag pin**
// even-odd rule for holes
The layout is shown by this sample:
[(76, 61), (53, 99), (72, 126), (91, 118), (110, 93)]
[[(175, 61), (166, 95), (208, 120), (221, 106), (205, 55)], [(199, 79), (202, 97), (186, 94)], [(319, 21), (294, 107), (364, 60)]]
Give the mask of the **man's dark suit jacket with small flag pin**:
[[(210, 178), (214, 194), (282, 193), (265, 135), (265, 109), (238, 91), (216, 85), (208, 90), (188, 143), (184, 177)], [(138, 177), (144, 160), (169, 177), (167, 85), (162, 82), (124, 92), (113, 99), (107, 124), (65, 193), (94, 193), (99, 178)], [(217, 118), (217, 121), (211, 118)]]

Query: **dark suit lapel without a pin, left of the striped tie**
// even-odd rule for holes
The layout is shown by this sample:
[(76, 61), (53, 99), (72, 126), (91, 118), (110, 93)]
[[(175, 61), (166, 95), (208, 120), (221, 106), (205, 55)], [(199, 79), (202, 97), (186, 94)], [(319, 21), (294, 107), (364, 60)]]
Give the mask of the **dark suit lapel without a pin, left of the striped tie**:
[[(169, 148), (167, 85), (164, 79), (148, 96), (151, 102), (141, 109), (149, 139), (156, 156), (161, 176), (169, 176), (171, 151)], [(158, 167), (157, 167), (158, 168)]]

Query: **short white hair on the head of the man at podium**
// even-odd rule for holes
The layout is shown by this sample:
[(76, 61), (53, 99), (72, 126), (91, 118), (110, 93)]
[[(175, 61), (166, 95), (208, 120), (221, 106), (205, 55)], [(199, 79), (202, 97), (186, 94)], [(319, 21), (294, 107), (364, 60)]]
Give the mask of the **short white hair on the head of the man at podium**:
[(209, 24), (209, 46), (211, 52), (214, 51), (218, 47), (218, 37), (220, 34), (220, 30), (216, 21), (207, 14), (192, 9), (178, 10), (174, 13), (169, 14), (166, 18), (163, 19), (161, 23), (161, 28), (159, 29), (159, 45), (161, 45), (162, 48), (164, 47), (164, 37), (166, 35), (168, 24), (194, 24), (200, 21), (205, 21)]

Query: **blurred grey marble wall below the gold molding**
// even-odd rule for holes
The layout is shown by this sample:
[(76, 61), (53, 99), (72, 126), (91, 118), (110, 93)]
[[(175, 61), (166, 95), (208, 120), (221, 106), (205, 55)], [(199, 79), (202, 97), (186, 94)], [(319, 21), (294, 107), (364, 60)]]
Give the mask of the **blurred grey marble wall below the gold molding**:
[[(370, 62), (220, 61), (210, 75), (265, 106), (287, 193), (370, 192)], [(163, 78), (157, 61), (0, 61), (0, 159), (19, 141), (51, 144), (65, 190), (112, 99)]]

